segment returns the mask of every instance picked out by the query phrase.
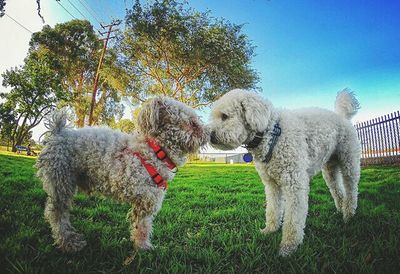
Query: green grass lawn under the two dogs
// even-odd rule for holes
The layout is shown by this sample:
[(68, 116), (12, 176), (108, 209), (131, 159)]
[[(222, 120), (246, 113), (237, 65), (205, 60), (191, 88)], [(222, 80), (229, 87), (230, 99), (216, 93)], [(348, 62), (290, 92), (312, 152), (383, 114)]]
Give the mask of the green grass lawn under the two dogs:
[(0, 154), (0, 272), (400, 272), (400, 168), (363, 170), (357, 215), (347, 225), (315, 177), (304, 243), (289, 258), (277, 256), (280, 232), (259, 233), (264, 194), (254, 167), (222, 164), (179, 171), (155, 220), (150, 252), (133, 252), (127, 204), (78, 194), (72, 222), (88, 245), (71, 255), (52, 245), (34, 162)]

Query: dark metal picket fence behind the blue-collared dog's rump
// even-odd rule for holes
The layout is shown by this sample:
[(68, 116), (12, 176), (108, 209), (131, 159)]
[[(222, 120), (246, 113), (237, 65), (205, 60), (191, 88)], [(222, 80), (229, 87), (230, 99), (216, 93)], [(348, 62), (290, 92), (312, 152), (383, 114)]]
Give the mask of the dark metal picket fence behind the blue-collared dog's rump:
[(400, 164), (400, 112), (355, 125), (362, 165)]

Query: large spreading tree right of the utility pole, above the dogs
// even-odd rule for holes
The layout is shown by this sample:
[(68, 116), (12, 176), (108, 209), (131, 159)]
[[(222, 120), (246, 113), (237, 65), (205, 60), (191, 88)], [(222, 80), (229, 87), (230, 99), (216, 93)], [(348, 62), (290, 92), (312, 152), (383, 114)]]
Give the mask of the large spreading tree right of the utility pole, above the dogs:
[(117, 49), (137, 101), (163, 94), (201, 107), (232, 88), (256, 88), (258, 81), (241, 25), (175, 0), (144, 6), (136, 0)]

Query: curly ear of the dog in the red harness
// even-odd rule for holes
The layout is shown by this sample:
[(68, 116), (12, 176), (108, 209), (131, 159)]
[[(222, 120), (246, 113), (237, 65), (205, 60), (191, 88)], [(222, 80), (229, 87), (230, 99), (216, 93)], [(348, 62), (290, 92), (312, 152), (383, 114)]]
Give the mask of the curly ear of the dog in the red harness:
[(160, 96), (144, 103), (138, 115), (139, 130), (154, 135), (160, 126), (160, 111), (164, 108), (164, 99)]

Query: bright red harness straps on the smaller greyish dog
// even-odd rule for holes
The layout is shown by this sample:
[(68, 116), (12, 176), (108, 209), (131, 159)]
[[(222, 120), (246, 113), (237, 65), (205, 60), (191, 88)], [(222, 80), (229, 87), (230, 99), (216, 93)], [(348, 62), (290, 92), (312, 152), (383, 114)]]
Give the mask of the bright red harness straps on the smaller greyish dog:
[[(157, 143), (154, 140), (151, 140), (151, 139), (147, 140), (147, 144), (154, 151), (157, 158), (160, 161), (163, 161), (167, 164), (167, 167), (169, 169), (173, 170), (176, 168), (176, 165), (168, 157), (167, 153), (159, 145), (157, 145)], [(161, 177), (161, 175), (158, 173), (157, 169), (152, 164), (147, 162), (139, 152), (132, 152), (132, 154), (135, 155), (137, 158), (139, 158), (140, 162), (142, 163), (144, 168), (147, 170), (147, 173), (149, 173), (153, 182), (159, 188), (163, 188), (164, 190), (167, 190), (168, 182), (163, 177)]]

